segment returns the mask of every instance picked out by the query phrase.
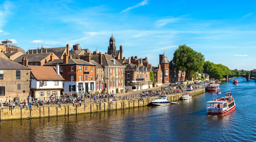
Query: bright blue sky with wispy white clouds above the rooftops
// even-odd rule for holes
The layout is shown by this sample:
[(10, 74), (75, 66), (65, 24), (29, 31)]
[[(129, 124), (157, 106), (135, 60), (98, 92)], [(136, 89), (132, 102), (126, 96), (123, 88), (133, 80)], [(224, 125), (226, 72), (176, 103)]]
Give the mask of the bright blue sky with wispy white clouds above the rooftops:
[(79, 43), (107, 52), (111, 30), (124, 56), (148, 57), (186, 44), (230, 69), (255, 67), (255, 1), (0, 1), (0, 40), (36, 49)]

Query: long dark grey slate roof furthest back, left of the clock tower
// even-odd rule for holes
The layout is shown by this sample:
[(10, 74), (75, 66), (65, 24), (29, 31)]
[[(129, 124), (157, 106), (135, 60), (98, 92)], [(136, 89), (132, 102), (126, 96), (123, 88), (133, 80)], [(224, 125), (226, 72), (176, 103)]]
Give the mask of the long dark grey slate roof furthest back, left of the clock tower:
[(66, 52), (66, 49), (67, 49), (67, 47), (57, 47), (57, 48), (47, 48), (47, 49), (33, 49), (33, 50), (28, 50), (27, 54), (32, 54), (32, 51), (33, 51), (33, 54), (36, 54), (36, 50), (37, 50), (37, 53), (41, 53), (41, 50), (42, 50), (43, 53), (46, 53), (46, 50), (47, 50), (47, 53), (52, 52), (58, 58), (61, 58), (62, 55), (64, 54), (64, 52)]

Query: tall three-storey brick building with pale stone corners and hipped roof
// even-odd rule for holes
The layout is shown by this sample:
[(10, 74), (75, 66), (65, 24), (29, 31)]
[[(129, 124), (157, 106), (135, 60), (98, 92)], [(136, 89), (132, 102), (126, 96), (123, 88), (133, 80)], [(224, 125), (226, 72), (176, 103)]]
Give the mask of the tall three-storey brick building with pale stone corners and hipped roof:
[(124, 68), (108, 54), (92, 55), (91, 60), (100, 64), (104, 69), (105, 90), (109, 93), (121, 93), (124, 89)]

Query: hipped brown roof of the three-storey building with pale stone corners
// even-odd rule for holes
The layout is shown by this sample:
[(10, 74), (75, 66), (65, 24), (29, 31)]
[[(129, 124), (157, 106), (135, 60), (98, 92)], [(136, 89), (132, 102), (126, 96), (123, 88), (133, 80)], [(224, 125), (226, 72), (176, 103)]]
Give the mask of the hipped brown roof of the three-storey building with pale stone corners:
[[(108, 54), (102, 54), (101, 57), (102, 57), (102, 64), (101, 64), (102, 66), (124, 66)], [(116, 62), (113, 63), (111, 59), (116, 60)], [(92, 55), (91, 60), (94, 60), (95, 62), (97, 62), (99, 64), (99, 54)]]

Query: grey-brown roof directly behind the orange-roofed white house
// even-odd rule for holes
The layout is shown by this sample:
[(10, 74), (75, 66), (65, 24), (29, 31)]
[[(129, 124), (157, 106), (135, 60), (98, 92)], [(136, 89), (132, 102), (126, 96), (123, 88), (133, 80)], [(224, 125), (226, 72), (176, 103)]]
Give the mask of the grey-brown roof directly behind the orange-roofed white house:
[(24, 54), (24, 55), (20, 55), (19, 57), (17, 57), (13, 61), (21, 63), (22, 58), (25, 57), (25, 58), (28, 58), (28, 62), (41, 62), (47, 56), (50, 56), (50, 55), (51, 55), (51, 53)]

